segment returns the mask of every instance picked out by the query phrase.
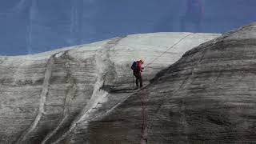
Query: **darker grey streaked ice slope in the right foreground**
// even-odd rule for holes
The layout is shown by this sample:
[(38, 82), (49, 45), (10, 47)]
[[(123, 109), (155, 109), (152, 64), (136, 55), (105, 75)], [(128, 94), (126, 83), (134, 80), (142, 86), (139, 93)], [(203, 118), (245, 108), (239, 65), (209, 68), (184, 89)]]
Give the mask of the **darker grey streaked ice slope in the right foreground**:
[(62, 142), (255, 143), (255, 40), (253, 23), (187, 51), (111, 114)]

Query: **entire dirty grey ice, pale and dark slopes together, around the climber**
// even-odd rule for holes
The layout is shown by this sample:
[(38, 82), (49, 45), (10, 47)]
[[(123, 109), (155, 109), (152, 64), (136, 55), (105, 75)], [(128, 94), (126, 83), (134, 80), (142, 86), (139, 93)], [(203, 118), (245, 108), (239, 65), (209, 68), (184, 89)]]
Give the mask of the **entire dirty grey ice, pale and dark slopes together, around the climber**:
[(0, 57), (0, 143), (254, 143), (255, 40), (254, 23)]

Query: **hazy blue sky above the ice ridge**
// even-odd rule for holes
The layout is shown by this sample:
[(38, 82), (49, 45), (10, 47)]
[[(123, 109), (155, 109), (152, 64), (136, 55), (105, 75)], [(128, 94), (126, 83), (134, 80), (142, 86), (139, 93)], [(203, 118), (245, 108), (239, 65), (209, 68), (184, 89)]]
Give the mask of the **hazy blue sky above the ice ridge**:
[(224, 33), (256, 21), (255, 0), (0, 1), (0, 55), (34, 54), (126, 34)]

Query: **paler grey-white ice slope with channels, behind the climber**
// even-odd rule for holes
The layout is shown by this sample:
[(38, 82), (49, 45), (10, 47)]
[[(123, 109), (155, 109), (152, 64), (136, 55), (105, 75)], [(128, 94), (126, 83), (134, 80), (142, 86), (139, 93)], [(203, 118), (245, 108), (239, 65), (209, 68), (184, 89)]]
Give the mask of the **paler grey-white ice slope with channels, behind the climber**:
[(84, 143), (90, 122), (112, 113), (133, 94), (131, 62), (143, 58), (150, 64), (143, 73), (147, 85), (187, 50), (218, 36), (134, 34), (0, 57), (0, 143)]

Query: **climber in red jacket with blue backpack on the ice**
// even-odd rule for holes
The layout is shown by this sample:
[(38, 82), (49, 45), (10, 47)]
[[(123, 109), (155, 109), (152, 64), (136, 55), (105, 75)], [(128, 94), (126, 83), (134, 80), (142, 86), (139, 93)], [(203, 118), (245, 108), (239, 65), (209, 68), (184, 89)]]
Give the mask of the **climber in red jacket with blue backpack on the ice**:
[(136, 78), (136, 89), (138, 89), (138, 82), (139, 82), (139, 86), (142, 89), (142, 70), (144, 69), (144, 67), (142, 67), (144, 61), (141, 59), (137, 62), (133, 62), (132, 66), (130, 67), (131, 70), (133, 70), (134, 72), (134, 76)]

